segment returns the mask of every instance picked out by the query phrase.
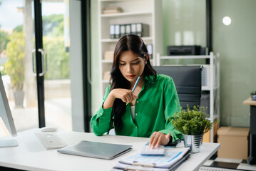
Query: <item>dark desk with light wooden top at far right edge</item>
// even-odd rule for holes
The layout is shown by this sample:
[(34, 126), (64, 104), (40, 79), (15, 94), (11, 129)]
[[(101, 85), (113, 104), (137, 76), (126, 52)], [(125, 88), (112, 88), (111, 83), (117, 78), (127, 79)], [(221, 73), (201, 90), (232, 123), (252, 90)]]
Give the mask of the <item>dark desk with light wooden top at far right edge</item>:
[(247, 163), (256, 164), (256, 101), (247, 98), (243, 101), (243, 105), (250, 105), (250, 140), (249, 140), (249, 156)]

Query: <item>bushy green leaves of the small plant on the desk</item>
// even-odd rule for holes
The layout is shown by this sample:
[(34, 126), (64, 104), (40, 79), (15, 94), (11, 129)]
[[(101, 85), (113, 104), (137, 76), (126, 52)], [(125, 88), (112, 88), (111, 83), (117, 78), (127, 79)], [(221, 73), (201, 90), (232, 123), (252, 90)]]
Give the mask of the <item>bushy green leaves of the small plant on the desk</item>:
[(194, 106), (191, 110), (181, 109), (180, 112), (175, 113), (173, 118), (171, 118), (171, 123), (173, 126), (185, 135), (200, 135), (207, 133), (214, 123), (219, 120), (215, 120), (213, 123), (210, 122), (210, 115), (205, 113), (205, 107)]

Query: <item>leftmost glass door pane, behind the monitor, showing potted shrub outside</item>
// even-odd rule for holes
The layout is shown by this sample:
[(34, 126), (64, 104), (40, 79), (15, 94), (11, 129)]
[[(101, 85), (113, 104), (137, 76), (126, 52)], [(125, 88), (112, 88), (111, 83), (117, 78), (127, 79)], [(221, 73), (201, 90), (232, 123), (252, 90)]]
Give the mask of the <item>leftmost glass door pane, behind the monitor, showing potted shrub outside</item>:
[(0, 0), (0, 71), (18, 132), (39, 128), (32, 0)]

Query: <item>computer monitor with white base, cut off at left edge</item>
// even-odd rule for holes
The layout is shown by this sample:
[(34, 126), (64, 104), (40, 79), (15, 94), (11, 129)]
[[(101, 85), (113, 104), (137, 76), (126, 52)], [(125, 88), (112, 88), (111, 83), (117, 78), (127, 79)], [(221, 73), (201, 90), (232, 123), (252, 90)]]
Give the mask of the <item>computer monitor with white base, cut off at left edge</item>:
[[(9, 102), (4, 90), (4, 83), (0, 73), (0, 117), (4, 121), (4, 125), (9, 130), (9, 133), (13, 137), (17, 136), (16, 128), (14, 125), (14, 119), (11, 115)], [(18, 142), (14, 138), (0, 138), (0, 147), (15, 147), (18, 146)]]

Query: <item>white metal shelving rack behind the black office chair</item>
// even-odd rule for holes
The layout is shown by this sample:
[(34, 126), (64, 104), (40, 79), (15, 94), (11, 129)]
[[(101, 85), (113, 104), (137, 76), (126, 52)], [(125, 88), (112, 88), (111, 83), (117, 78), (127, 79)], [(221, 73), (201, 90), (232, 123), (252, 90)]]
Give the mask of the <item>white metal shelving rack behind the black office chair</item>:
[[(156, 57), (156, 66), (165, 66), (173, 65), (176, 61), (180, 60), (203, 60), (205, 61), (208, 59), (210, 61), (209, 64), (205, 63), (197, 63), (197, 65), (203, 65), (204, 69), (202, 71), (202, 100), (201, 105), (207, 104), (210, 114), (210, 120), (220, 118), (220, 62), (219, 62), (220, 55), (214, 55), (213, 52), (210, 52), (208, 56), (160, 56), (160, 53), (157, 54)], [(175, 65), (175, 64), (174, 64)], [(206, 95), (208, 98), (203, 98)], [(207, 102), (208, 101), (208, 102)], [(214, 142), (215, 135), (217, 133), (217, 125), (215, 125), (206, 135), (204, 135), (205, 142)]]

